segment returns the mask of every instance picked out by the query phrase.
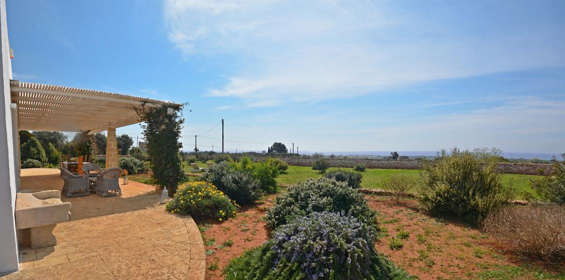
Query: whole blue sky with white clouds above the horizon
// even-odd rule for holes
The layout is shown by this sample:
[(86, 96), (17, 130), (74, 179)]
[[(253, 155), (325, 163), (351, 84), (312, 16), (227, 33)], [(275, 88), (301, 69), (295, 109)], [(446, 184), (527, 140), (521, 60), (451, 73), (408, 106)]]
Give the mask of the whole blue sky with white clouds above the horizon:
[(14, 78), (189, 102), (184, 150), (565, 152), (563, 1), (7, 2)]

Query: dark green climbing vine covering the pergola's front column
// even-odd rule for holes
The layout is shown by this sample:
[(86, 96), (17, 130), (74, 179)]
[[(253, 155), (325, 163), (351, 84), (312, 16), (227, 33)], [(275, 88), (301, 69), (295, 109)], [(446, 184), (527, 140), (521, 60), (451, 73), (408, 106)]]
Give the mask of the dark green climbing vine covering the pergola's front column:
[(166, 187), (169, 195), (176, 193), (177, 185), (184, 178), (179, 141), (182, 124), (181, 106), (150, 107), (144, 104), (136, 108), (140, 116), (142, 134), (147, 142), (147, 154), (151, 161), (153, 179), (157, 185)]

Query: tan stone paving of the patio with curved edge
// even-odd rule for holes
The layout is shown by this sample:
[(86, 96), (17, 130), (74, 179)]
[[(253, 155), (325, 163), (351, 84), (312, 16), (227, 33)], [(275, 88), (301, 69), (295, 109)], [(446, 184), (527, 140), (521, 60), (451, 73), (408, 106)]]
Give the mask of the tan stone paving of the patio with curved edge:
[[(20, 185), (60, 190), (63, 179), (58, 169), (22, 169)], [(58, 244), (20, 248), (19, 272), (0, 279), (204, 279), (206, 256), (192, 217), (164, 211), (152, 186), (120, 187), (121, 196), (63, 196), (72, 220), (55, 227)]]

